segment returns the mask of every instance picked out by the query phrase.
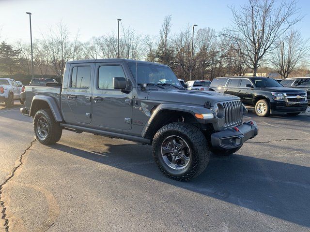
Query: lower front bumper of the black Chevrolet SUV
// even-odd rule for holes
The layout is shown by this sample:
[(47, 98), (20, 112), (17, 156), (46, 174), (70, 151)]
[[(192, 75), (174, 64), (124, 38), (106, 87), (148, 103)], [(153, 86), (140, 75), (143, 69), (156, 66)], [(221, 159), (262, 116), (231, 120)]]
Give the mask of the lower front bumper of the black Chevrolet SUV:
[(270, 102), (271, 114), (285, 114), (305, 112), (308, 102), (288, 103), (288, 102)]

